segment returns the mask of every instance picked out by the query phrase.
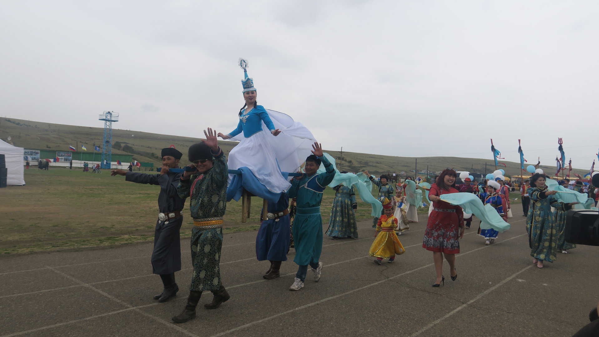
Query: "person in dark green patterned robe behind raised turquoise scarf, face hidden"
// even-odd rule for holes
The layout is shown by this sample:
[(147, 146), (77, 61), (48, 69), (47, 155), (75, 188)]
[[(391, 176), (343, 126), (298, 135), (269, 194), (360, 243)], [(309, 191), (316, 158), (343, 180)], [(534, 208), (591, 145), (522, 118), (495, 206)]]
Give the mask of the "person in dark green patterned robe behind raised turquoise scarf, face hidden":
[[(347, 172), (341, 172), (347, 173)], [(337, 238), (358, 238), (358, 225), (356, 224), (356, 213), (358, 208), (356, 202), (356, 192), (352, 187), (343, 186), (343, 184), (333, 187), (335, 190), (335, 199), (331, 207), (331, 220), (329, 220), (329, 229), (326, 235), (331, 239)]]

